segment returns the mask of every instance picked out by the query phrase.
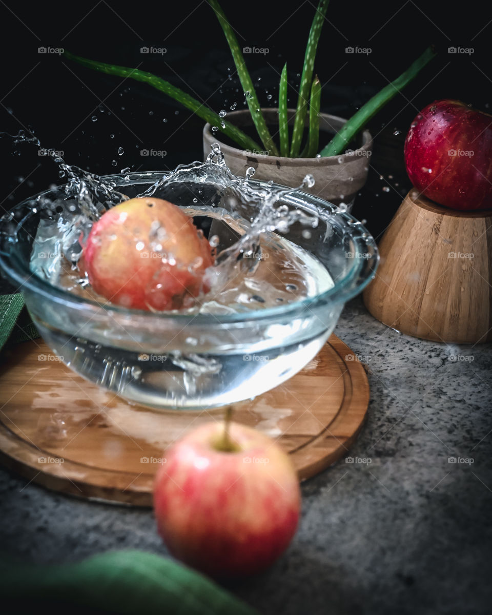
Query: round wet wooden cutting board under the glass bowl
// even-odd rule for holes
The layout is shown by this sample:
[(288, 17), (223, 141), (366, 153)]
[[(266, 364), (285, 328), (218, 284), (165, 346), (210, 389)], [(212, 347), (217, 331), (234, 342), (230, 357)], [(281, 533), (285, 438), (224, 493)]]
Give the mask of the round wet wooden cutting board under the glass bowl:
[[(347, 454), (368, 402), (362, 364), (331, 335), (293, 378), (235, 404), (233, 419), (276, 439), (303, 480)], [(2, 354), (0, 462), (63, 493), (150, 506), (166, 448), (223, 415), (220, 408), (161, 412), (129, 405), (58, 362), (41, 339)]]

